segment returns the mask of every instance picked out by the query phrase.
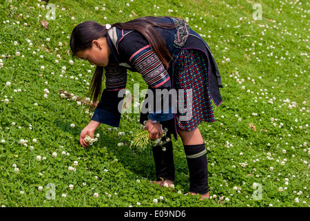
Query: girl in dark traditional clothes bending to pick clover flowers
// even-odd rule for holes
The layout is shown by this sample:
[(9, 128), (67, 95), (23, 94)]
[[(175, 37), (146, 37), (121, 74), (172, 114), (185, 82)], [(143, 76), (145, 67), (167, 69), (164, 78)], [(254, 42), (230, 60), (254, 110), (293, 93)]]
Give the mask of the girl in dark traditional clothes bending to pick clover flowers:
[[(93, 137), (100, 124), (119, 126), (118, 104), (122, 104), (123, 97), (118, 94), (126, 86), (127, 70), (140, 73), (149, 89), (145, 100), (150, 102), (140, 118), (141, 124), (146, 121), (149, 139), (161, 137), (161, 125), (168, 128), (169, 138), (174, 135), (177, 140), (179, 135), (189, 168), (189, 193), (209, 198), (207, 153), (198, 124), (214, 122), (211, 99), (220, 105), (219, 88), (223, 86), (205, 41), (182, 19), (141, 17), (112, 26), (95, 21), (80, 23), (72, 30), (70, 48), (76, 57), (96, 65), (90, 86), (94, 104), (101, 95), (105, 73), (105, 88), (92, 120), (81, 131), (81, 146), (89, 146), (84, 138)], [(168, 99), (164, 99), (166, 95)], [(171, 139), (163, 140), (162, 146), (165, 148), (152, 148), (154, 183), (171, 185), (175, 179)]]

